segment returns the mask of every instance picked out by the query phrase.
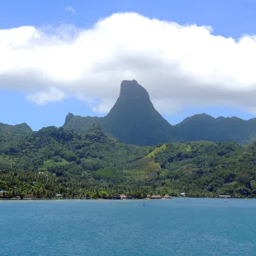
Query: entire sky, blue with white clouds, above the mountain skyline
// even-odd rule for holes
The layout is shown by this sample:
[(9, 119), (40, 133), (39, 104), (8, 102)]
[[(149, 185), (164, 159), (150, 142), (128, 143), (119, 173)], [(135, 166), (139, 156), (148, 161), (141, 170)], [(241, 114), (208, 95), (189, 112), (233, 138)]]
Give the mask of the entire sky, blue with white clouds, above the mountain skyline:
[(136, 79), (168, 122), (256, 116), (256, 0), (0, 2), (0, 122), (104, 116)]

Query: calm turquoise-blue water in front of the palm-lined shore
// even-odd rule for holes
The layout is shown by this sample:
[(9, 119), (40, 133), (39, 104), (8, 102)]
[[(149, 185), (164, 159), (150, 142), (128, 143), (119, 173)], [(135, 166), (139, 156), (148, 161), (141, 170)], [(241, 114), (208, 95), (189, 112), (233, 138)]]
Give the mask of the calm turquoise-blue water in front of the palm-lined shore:
[(256, 255), (256, 200), (0, 201), (0, 255)]

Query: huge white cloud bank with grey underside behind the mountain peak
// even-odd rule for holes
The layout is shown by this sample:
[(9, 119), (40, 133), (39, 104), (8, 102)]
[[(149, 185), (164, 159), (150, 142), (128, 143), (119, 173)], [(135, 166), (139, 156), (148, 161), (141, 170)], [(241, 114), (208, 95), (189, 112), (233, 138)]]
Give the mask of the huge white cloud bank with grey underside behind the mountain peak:
[(138, 13), (115, 13), (91, 29), (0, 30), (0, 90), (33, 91), (47, 104), (67, 97), (108, 111), (124, 79), (136, 79), (161, 113), (228, 106), (256, 113), (256, 36), (214, 36)]

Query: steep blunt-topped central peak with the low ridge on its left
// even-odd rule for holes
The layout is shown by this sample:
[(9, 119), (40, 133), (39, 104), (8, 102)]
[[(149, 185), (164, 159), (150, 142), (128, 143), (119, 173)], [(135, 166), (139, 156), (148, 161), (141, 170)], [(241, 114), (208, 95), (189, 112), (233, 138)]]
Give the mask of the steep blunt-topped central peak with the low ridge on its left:
[(100, 124), (109, 136), (134, 145), (154, 145), (179, 137), (177, 130), (156, 111), (147, 90), (135, 80), (122, 81), (120, 95), (107, 116), (69, 113), (63, 127), (83, 133), (92, 124)]

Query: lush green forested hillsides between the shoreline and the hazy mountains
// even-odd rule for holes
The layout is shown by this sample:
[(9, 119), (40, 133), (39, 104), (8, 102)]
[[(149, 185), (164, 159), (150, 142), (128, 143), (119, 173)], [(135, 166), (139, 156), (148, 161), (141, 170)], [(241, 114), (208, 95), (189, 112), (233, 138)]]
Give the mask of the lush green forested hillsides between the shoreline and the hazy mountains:
[[(2, 134), (3, 135), (3, 134)], [(5, 139), (4, 139), (5, 138)], [(256, 197), (256, 145), (198, 141), (138, 147), (47, 127), (0, 137), (0, 197), (113, 198), (127, 194)]]

